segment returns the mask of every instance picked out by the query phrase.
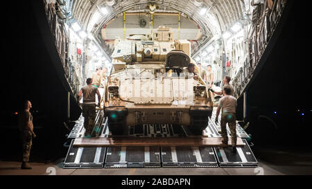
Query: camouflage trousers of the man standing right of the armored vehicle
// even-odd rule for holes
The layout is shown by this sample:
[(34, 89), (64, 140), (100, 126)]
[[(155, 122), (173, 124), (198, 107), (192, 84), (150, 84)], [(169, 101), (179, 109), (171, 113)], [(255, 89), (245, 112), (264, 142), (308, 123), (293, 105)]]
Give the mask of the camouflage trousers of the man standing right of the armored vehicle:
[(229, 138), (227, 137), (227, 123), (231, 132), (232, 146), (236, 146), (236, 115), (234, 113), (223, 112), (221, 116), (221, 135), (225, 142), (229, 140)]

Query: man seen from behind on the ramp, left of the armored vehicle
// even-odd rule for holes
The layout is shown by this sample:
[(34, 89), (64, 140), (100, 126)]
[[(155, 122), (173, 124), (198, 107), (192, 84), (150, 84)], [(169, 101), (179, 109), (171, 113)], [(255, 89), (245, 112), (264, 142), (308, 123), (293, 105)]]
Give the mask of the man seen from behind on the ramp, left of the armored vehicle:
[(91, 137), (94, 127), (94, 120), (96, 117), (96, 94), (98, 95), (98, 107), (100, 107), (100, 92), (97, 87), (92, 86), (92, 78), (87, 78), (87, 85), (81, 88), (78, 93), (78, 100), (83, 96), (83, 117), (85, 118), (83, 127), (85, 127), (85, 138)]

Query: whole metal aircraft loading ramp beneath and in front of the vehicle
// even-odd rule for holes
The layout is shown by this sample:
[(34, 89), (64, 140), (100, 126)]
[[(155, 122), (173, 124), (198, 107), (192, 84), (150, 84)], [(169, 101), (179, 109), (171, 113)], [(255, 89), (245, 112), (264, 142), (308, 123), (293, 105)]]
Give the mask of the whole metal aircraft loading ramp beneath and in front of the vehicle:
[[(101, 111), (98, 112), (101, 114)], [(102, 115), (103, 116), (103, 115)], [(214, 111), (213, 117), (216, 116)], [(96, 139), (106, 140), (110, 138), (110, 132), (107, 127), (105, 127), (105, 119), (101, 116), (97, 116), (96, 124), (98, 127), (95, 129), (97, 136), (96, 138), (91, 138), (91, 141)], [(101, 119), (102, 118), (102, 119)], [(101, 123), (100, 123), (101, 120)], [(214, 120), (212, 118), (211, 120)], [(139, 140), (137, 145), (122, 145), (123, 138), (110, 138), (113, 141), (119, 141), (119, 145), (77, 145), (82, 144), (81, 142), (86, 140), (84, 138), (85, 129), (83, 129), (83, 117), (80, 117), (76, 121), (76, 125), (73, 127), (72, 132), (69, 134), (70, 147), (67, 152), (66, 159), (64, 160), (64, 168), (216, 168), (216, 167), (257, 167), (257, 159), (254, 157), (250, 146), (248, 145), (248, 140), (250, 139), (248, 134), (245, 133), (243, 128), (237, 124), (237, 134), (238, 134), (238, 144), (236, 147), (237, 153), (232, 153), (232, 147), (224, 145), (197, 145), (194, 141), (221, 140), (220, 134), (218, 134), (218, 129), (220, 125), (216, 125), (213, 121), (209, 120), (209, 125), (204, 132), (204, 136), (201, 138), (177, 138), (181, 134), (174, 133), (176, 130), (181, 129), (168, 129), (173, 132), (173, 134), (168, 134), (167, 137), (159, 137), (157, 134), (157, 129), (155, 129), (155, 134), (148, 134), (149, 137), (144, 138), (144, 132), (139, 131), (140, 129), (135, 129), (132, 127), (132, 131), (139, 131), (138, 133), (132, 134), (136, 137), (130, 140)], [(219, 122), (220, 123), (220, 122)], [(99, 126), (99, 124), (101, 124)], [(148, 125), (148, 127), (154, 127), (155, 125)], [(173, 127), (173, 125), (170, 125)], [(162, 126), (160, 126), (162, 127)], [(168, 128), (168, 125), (164, 128)], [(145, 127), (146, 128), (146, 127)], [(228, 129), (228, 128), (227, 128)], [(182, 129), (183, 130), (183, 129)], [(158, 131), (159, 132), (159, 131)], [(187, 132), (187, 131), (184, 131)], [(163, 134), (166, 132), (163, 132)], [(157, 137), (158, 136), (158, 137)], [(172, 138), (170, 137), (172, 136)], [(185, 133), (184, 133), (185, 136)], [(141, 138), (143, 137), (143, 138)], [(230, 135), (229, 135), (230, 137)], [(106, 139), (105, 139), (106, 138)], [(127, 138), (129, 140), (129, 138)], [(162, 142), (162, 145), (146, 145), (146, 142), (142, 141), (154, 141)], [(173, 143), (166, 144), (164, 141), (173, 140), (176, 141), (175, 145)], [(192, 144), (187, 142), (193, 141)], [(74, 145), (76, 143), (76, 145)], [(141, 145), (139, 144), (141, 143)], [(180, 143), (180, 144), (177, 144)], [(182, 144), (181, 144), (182, 143)], [(230, 143), (230, 138), (229, 138)], [(164, 145), (166, 144), (166, 145)], [(144, 146), (145, 145), (145, 146)]]

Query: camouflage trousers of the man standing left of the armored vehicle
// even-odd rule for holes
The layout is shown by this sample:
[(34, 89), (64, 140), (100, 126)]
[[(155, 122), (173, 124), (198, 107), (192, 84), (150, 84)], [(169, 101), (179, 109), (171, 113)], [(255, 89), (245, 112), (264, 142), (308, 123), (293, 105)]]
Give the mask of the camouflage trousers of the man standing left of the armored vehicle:
[(85, 136), (92, 133), (94, 120), (96, 117), (96, 107), (94, 105), (83, 105), (83, 117), (85, 118), (85, 122), (83, 123), (83, 127), (85, 127)]

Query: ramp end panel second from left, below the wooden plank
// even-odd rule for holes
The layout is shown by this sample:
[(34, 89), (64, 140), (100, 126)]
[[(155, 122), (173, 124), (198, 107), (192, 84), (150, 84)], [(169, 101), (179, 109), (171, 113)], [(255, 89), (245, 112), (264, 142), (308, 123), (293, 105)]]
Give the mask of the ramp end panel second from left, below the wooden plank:
[(159, 147), (107, 147), (105, 168), (160, 168)]

